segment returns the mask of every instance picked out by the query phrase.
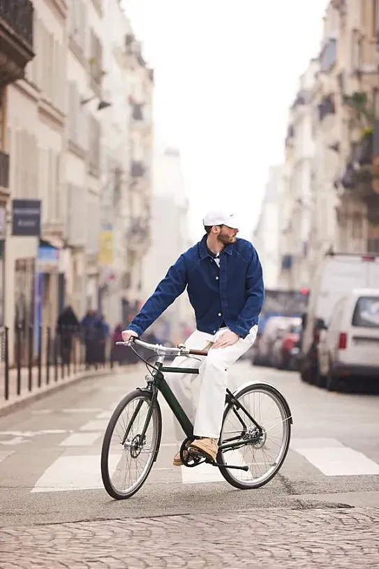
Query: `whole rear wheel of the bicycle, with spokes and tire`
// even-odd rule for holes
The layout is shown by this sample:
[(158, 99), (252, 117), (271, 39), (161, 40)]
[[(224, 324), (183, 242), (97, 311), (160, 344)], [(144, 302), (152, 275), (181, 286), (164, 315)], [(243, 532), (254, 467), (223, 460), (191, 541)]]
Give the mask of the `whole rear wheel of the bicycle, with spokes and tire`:
[[(224, 412), (218, 453), (218, 463), (224, 466), (219, 469), (235, 488), (259, 488), (274, 478), (287, 455), (290, 410), (281, 392), (267, 383), (246, 385), (236, 399), (241, 407), (231, 401)], [(262, 427), (262, 434), (251, 417)], [(228, 450), (228, 445), (235, 448)], [(228, 469), (228, 464), (247, 466), (248, 471)]]

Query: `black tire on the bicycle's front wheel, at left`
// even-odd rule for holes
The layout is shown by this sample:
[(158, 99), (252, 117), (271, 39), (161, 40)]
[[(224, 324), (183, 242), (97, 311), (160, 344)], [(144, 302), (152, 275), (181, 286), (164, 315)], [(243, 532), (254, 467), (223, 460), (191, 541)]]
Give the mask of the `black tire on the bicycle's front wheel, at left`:
[(153, 467), (153, 464), (156, 461), (156, 457), (158, 456), (158, 451), (161, 445), (162, 413), (161, 413), (161, 407), (159, 406), (158, 401), (156, 401), (154, 404), (153, 415), (151, 416), (150, 421), (154, 421), (154, 413), (156, 413), (155, 420), (156, 420), (157, 432), (155, 437), (154, 449), (152, 449), (151, 457), (149, 459), (149, 465), (147, 466), (146, 471), (144, 471), (142, 479), (130, 491), (119, 492), (117, 489), (114, 488), (108, 468), (110, 443), (112, 440), (114, 427), (116, 427), (117, 421), (119, 420), (119, 417), (126, 408), (126, 406), (130, 404), (131, 401), (133, 401), (133, 399), (141, 399), (141, 398), (145, 399), (146, 401), (149, 402), (149, 404), (151, 404), (152, 394), (147, 390), (134, 390), (128, 395), (126, 395), (124, 399), (121, 399), (117, 407), (114, 409), (112, 417), (110, 417), (110, 422), (107, 424), (107, 429), (105, 429), (103, 445), (101, 448), (101, 478), (103, 479), (103, 485), (107, 494), (109, 494), (112, 498), (116, 500), (125, 500), (126, 498), (131, 498), (131, 496), (133, 496), (136, 492), (138, 492), (138, 490), (140, 490), (142, 485), (144, 485), (144, 482), (147, 480), (151, 468)]

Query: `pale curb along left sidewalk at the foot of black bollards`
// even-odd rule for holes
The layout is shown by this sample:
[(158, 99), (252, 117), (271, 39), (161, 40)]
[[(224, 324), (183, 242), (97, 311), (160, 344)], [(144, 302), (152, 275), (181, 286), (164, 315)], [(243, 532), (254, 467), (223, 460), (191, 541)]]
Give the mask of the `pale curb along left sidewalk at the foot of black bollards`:
[[(0, 404), (0, 417), (6, 417), (6, 415), (10, 415), (10, 413), (14, 413), (15, 411), (20, 411), (20, 409), (27, 407), (29, 404), (34, 403), (35, 401), (39, 401), (43, 399), (43, 397), (47, 397), (55, 392), (59, 392), (64, 390), (66, 387), (70, 387), (73, 383), (78, 383), (79, 381), (86, 380), (86, 379), (94, 379), (100, 378), (104, 376), (110, 376), (112, 374), (121, 375), (130, 373), (131, 371), (136, 371), (139, 367), (139, 364), (131, 364), (127, 367), (117, 367), (113, 369), (94, 369), (91, 371), (82, 371), (75, 376), (72, 376), (67, 379), (61, 379), (57, 383), (50, 383), (49, 385), (43, 385), (37, 391), (27, 392), (24, 395), (20, 395), (19, 397), (13, 397), (9, 401), (5, 401), (5, 404), (1, 406)], [(126, 371), (128, 370), (128, 371)], [(37, 388), (38, 389), (38, 388)]]

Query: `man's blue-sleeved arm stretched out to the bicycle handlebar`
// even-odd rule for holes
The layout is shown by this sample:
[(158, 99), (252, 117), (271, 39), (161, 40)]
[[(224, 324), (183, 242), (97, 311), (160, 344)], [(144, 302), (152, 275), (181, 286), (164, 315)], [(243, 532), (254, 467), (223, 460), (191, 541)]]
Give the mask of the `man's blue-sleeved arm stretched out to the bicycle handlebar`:
[(140, 312), (133, 318), (127, 330), (133, 330), (141, 336), (168, 306), (184, 292), (187, 286), (187, 269), (184, 255), (181, 255), (174, 265), (168, 269), (154, 293), (144, 303)]

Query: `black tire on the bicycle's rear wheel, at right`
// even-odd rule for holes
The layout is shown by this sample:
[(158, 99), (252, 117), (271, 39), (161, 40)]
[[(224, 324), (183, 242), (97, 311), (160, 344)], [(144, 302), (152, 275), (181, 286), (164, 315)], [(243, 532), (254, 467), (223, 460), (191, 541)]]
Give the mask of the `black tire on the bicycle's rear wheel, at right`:
[[(272, 480), (274, 478), (274, 476), (276, 476), (278, 471), (281, 469), (281, 466), (283, 465), (283, 462), (285, 461), (285, 457), (287, 456), (288, 449), (290, 448), (292, 425), (291, 425), (291, 421), (290, 421), (289, 406), (288, 406), (288, 403), (285, 400), (285, 397), (283, 396), (283, 394), (281, 394), (281, 392), (278, 389), (276, 389), (276, 387), (274, 387), (274, 385), (270, 385), (269, 383), (253, 383), (251, 385), (246, 385), (246, 387), (243, 390), (241, 390), (241, 392), (239, 392), (237, 399), (239, 399), (240, 397), (243, 397), (248, 392), (255, 392), (255, 391), (263, 391), (264, 392), (265, 390), (267, 392), (269, 392), (270, 394), (274, 395), (274, 397), (276, 397), (276, 399), (280, 402), (280, 404), (282, 406), (283, 413), (285, 414), (285, 418), (286, 418), (285, 422), (286, 422), (287, 429), (288, 429), (287, 440), (285, 441), (285, 447), (284, 447), (283, 453), (281, 455), (281, 458), (279, 459), (278, 463), (276, 464), (276, 468), (274, 468), (274, 471), (272, 471), (272, 473), (270, 473), (267, 476), (267, 478), (265, 478), (265, 480), (261, 480), (260, 482), (254, 482), (254, 481), (240, 482), (239, 480), (236, 480), (236, 478), (230, 473), (227, 466), (218, 466), (218, 469), (221, 472), (221, 475), (223, 475), (223, 478), (225, 478), (225, 480), (227, 482), (229, 482), (230, 485), (232, 485), (235, 488), (238, 488), (239, 490), (257, 489), (257, 488), (260, 488), (262, 486), (265, 486), (267, 484), (267, 482)], [(232, 410), (232, 408), (233, 408), (232, 403), (229, 403), (228, 406), (225, 408), (224, 415), (223, 415), (223, 424), (221, 427), (221, 433), (223, 432), (223, 426), (224, 426), (226, 418), (228, 417), (228, 413)], [(218, 461), (218, 464), (225, 464), (223, 452), (221, 452), (221, 451), (218, 452), (217, 461)]]

